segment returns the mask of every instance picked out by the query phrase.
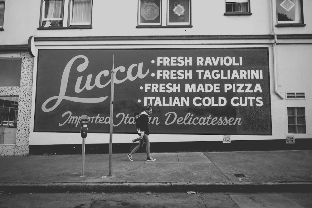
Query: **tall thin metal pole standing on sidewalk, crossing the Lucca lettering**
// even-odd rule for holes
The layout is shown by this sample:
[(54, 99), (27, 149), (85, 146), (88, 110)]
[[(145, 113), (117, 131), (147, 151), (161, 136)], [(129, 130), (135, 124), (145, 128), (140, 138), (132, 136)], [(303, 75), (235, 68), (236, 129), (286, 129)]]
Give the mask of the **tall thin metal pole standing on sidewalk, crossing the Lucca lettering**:
[(112, 152), (113, 152), (113, 111), (114, 111), (114, 78), (115, 78), (115, 70), (114, 70), (114, 58), (113, 55), (113, 69), (111, 73), (111, 87), (110, 87), (110, 163), (108, 169), (108, 175), (112, 175)]

